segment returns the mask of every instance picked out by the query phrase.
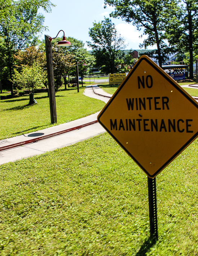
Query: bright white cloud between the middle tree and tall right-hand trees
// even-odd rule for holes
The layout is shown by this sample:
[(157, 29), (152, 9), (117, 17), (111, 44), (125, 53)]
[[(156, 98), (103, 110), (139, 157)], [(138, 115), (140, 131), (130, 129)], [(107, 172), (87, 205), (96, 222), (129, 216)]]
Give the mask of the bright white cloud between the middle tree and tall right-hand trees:
[[(116, 25), (116, 30), (126, 40), (126, 43), (129, 44), (127, 48), (138, 49), (139, 44), (142, 44), (144, 39), (147, 38), (146, 35), (139, 37), (143, 34), (143, 31), (138, 31), (135, 26), (127, 23)], [(156, 46), (149, 47), (148, 49), (156, 49)]]

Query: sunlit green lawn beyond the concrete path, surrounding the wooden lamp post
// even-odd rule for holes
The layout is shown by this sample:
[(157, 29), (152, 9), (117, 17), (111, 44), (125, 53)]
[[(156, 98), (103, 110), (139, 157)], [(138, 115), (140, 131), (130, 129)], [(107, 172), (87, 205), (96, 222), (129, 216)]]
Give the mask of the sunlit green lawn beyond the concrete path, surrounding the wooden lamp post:
[[(103, 108), (105, 103), (84, 96), (84, 88), (69, 88), (56, 94), (57, 124), (91, 115)], [(36, 105), (27, 106), (29, 96), (0, 101), (0, 139), (48, 128), (50, 122), (47, 93), (36, 93)]]

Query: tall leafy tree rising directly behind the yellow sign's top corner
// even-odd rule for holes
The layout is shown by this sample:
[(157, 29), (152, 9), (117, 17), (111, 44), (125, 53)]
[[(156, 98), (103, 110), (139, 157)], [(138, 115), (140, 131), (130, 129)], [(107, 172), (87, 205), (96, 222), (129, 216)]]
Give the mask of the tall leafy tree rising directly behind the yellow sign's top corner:
[(144, 28), (143, 34), (148, 35), (148, 38), (140, 46), (147, 49), (148, 46), (157, 44), (153, 57), (157, 58), (159, 66), (162, 66), (162, 62), (175, 50), (174, 47), (167, 45), (165, 34), (170, 17), (176, 13), (175, 1), (105, 0), (105, 4), (115, 6), (115, 11), (110, 14), (111, 17), (122, 17), (126, 22), (132, 22), (138, 30)]

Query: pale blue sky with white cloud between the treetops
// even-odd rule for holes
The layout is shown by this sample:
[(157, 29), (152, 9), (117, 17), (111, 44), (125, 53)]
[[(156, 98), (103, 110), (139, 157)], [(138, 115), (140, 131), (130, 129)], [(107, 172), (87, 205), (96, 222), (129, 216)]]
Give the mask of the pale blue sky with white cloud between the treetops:
[[(104, 0), (52, 0), (56, 6), (52, 8), (51, 13), (46, 13), (40, 10), (45, 16), (45, 26), (48, 26), (49, 31), (42, 33), (44, 35), (55, 37), (59, 30), (64, 30), (66, 37), (71, 36), (82, 40), (86, 45), (86, 41), (90, 41), (89, 28), (93, 26), (93, 22), (99, 22), (104, 19), (104, 16), (109, 18), (109, 13), (114, 9), (108, 7), (104, 9)], [(143, 38), (139, 38), (141, 31), (136, 30), (132, 24), (122, 21), (122, 19), (111, 18), (116, 25), (117, 32), (126, 40), (128, 46), (126, 49), (140, 49), (139, 44), (143, 42)], [(62, 35), (62, 34), (59, 34)], [(154, 49), (150, 47), (148, 49)], [(87, 48), (90, 50), (89, 48)]]

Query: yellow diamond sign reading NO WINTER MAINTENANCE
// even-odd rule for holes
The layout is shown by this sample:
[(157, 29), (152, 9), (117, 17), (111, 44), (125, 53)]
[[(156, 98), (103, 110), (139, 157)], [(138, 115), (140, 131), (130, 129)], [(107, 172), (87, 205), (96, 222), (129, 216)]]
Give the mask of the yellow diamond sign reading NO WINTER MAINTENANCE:
[(198, 103), (142, 56), (98, 122), (154, 178), (198, 137)]

